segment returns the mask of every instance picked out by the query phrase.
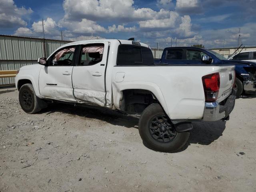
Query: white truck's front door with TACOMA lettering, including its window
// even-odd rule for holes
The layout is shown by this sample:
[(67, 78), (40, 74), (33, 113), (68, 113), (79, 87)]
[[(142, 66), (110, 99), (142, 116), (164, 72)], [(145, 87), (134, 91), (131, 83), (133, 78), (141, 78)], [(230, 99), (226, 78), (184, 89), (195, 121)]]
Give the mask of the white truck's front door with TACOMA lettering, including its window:
[(45, 98), (75, 102), (72, 87), (75, 46), (57, 50), (39, 74), (40, 94)]

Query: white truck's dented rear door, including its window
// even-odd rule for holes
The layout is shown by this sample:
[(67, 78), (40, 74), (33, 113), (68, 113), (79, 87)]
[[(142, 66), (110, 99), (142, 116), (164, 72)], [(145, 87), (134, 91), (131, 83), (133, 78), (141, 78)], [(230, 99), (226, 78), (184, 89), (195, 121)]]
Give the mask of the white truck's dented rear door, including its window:
[(82, 44), (73, 72), (74, 96), (77, 102), (106, 105), (105, 69), (108, 57), (107, 42)]

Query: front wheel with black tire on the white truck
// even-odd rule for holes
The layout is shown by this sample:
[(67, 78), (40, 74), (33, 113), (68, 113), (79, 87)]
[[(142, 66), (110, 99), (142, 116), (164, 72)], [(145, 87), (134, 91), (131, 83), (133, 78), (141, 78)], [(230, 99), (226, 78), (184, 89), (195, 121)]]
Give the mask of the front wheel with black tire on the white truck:
[(39, 112), (41, 110), (39, 100), (32, 84), (27, 83), (21, 86), (19, 90), (19, 102), (24, 112), (28, 114)]

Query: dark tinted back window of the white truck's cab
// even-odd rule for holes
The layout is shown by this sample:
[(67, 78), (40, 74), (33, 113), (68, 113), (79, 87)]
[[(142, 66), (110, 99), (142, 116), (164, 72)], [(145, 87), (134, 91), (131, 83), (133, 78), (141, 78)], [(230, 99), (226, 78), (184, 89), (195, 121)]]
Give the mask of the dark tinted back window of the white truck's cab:
[(118, 48), (117, 65), (150, 65), (154, 58), (150, 48), (136, 45), (120, 45)]

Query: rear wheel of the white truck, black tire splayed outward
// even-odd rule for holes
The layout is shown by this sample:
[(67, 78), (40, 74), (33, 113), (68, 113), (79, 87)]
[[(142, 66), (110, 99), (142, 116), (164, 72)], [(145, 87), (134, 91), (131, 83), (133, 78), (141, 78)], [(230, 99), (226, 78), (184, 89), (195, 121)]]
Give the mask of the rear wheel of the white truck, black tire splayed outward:
[[(161, 134), (161, 131), (162, 131), (161, 128), (163, 128), (163, 130), (164, 130), (164, 126), (162, 126), (162, 124), (161, 124), (161, 126), (158, 126), (160, 124), (157, 123), (158, 125), (156, 125), (154, 127), (154, 129), (152, 129), (152, 122), (156, 122), (156, 121), (158, 122), (159, 119), (156, 121), (154, 121), (154, 120), (156, 118), (162, 117), (162, 116), (166, 117), (166, 119), (168, 120), (168, 125), (171, 125), (171, 128), (169, 126), (170, 130), (165, 130), (166, 133), (164, 131)], [(155, 123), (153, 123), (153, 124), (155, 124)], [(158, 128), (156, 128), (156, 127), (158, 127)], [(175, 134), (175, 136), (173, 136), (172, 138), (168, 138), (167, 133), (169, 133), (168, 131), (171, 131), (171, 130), (172, 130), (172, 134)], [(171, 153), (177, 152), (180, 149), (182, 149), (182, 147), (188, 141), (188, 138), (190, 135), (189, 131), (176, 132), (173, 124), (170, 122), (170, 119), (165, 114), (162, 107), (157, 103), (151, 104), (142, 112), (142, 115), (140, 116), (140, 121), (139, 121), (139, 132), (140, 132), (140, 137), (142, 138), (145, 146), (147, 146), (148, 148), (151, 148), (152, 150), (156, 150), (156, 151), (160, 151), (160, 152), (171, 152)], [(159, 138), (158, 140), (156, 140), (155, 137), (156, 136), (159, 137), (158, 134), (159, 135), (161, 134), (161, 136), (163, 134), (166, 134), (166, 135), (162, 139)], [(172, 135), (172, 134), (169, 134), (169, 135)], [(162, 140), (162, 142), (161, 142), (161, 140)], [(166, 140), (166, 142), (165, 142), (165, 140)], [(170, 140), (170, 141), (167, 141), (167, 140)]]

